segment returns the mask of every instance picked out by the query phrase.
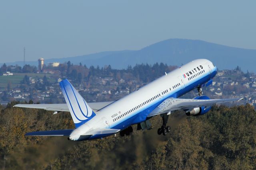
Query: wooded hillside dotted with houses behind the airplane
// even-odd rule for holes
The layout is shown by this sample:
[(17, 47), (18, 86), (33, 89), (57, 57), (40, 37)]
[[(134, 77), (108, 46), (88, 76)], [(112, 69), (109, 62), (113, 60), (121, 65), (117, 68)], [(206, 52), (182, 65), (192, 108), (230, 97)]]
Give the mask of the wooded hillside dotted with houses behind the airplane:
[[(18, 67), (18, 68), (17, 68)], [(38, 71), (34, 66), (25, 65), (1, 67), (6, 87), (0, 88), (0, 103), (10, 101), (29, 101), (34, 103), (64, 103), (64, 97), (58, 85), (60, 79), (67, 78), (88, 102), (115, 101), (132, 91), (135, 91), (175, 69), (163, 63), (154, 65), (141, 64), (127, 69), (117, 70), (111, 66), (104, 68), (89, 67), (63, 63), (58, 67), (44, 66)], [(32, 74), (33, 73), (33, 74)], [(13, 83), (15, 76), (24, 77)], [(6, 78), (7, 77), (7, 78)], [(1, 80), (2, 81), (2, 80)], [(218, 71), (212, 85), (203, 88), (204, 95), (212, 99), (245, 97), (244, 102), (256, 105), (256, 74), (243, 73), (239, 67), (233, 70)], [(184, 98), (197, 96), (197, 91), (191, 91)]]

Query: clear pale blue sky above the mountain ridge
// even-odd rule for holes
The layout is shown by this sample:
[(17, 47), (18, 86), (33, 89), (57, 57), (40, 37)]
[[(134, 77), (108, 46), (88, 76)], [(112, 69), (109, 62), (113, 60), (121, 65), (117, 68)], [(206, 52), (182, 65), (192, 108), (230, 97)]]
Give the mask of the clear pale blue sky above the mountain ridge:
[(185, 38), (256, 49), (256, 1), (0, 1), (0, 63)]

